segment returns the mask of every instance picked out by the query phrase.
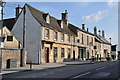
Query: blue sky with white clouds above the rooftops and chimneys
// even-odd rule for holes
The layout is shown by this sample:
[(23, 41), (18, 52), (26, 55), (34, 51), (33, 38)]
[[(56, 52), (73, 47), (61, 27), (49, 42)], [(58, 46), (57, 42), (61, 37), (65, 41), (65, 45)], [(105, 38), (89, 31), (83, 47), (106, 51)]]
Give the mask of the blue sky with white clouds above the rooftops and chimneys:
[[(7, 3), (4, 18), (14, 17), (15, 7), (25, 3)], [(112, 37), (112, 44), (118, 42), (118, 5), (117, 2), (28, 2), (38, 10), (61, 19), (61, 13), (68, 10), (69, 22), (80, 27), (84, 23), (93, 33), (94, 26), (105, 30), (106, 38)]]

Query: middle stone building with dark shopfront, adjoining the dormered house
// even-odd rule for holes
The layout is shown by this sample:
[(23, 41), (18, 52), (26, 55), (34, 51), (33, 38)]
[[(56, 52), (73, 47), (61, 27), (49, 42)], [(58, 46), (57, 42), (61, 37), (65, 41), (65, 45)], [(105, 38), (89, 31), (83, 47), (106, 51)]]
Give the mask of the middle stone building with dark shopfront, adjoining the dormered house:
[(85, 24), (82, 24), (82, 29), (69, 24), (71, 31), (76, 33), (76, 45), (78, 45), (78, 58), (80, 60), (89, 60), (94, 56), (95, 35), (90, 33), (88, 28), (85, 30)]

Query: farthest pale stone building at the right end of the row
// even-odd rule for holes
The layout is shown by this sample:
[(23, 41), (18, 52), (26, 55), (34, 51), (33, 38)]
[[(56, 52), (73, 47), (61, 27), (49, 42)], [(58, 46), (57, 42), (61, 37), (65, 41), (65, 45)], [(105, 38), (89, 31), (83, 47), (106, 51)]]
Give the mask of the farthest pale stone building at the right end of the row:
[(100, 34), (100, 30), (97, 34), (97, 28), (94, 27), (95, 34), (95, 57), (106, 59), (107, 57), (111, 57), (111, 43), (106, 40), (105, 32), (102, 30), (102, 35)]

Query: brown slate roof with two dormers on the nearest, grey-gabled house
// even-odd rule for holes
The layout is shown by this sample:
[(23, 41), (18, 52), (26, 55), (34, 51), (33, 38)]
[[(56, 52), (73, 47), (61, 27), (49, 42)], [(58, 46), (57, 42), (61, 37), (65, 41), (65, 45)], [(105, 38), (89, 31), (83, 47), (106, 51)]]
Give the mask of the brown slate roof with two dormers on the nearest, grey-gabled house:
[(31, 12), (31, 14), (33, 15), (33, 17), (43, 26), (43, 27), (48, 27), (51, 28), (53, 30), (57, 30), (60, 31), (62, 33), (66, 33), (69, 35), (73, 35), (73, 36), (77, 36), (74, 32), (72, 32), (68, 26), (63, 22), (64, 27), (61, 28), (60, 26), (60, 20), (50, 16), (50, 23), (46, 23), (45, 21), (45, 16), (48, 13), (44, 13), (42, 11), (39, 11), (33, 7), (31, 7), (30, 5), (26, 4)]

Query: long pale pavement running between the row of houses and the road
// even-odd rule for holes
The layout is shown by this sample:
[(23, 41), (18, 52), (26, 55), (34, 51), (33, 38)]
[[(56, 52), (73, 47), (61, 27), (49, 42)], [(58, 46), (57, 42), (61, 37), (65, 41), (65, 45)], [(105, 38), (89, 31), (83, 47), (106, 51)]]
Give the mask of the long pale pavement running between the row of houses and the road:
[(32, 65), (32, 69), (30, 69), (30, 65), (27, 64), (24, 67), (17, 67), (17, 68), (10, 68), (10, 69), (3, 69), (1, 74), (11, 74), (16, 72), (25, 72), (31, 70), (42, 70), (42, 69), (49, 69), (49, 68), (57, 68), (63, 67), (67, 65), (81, 65), (81, 64), (91, 64), (96, 62), (91, 61), (71, 61), (71, 62), (62, 62), (62, 63), (45, 63), (40, 65)]

